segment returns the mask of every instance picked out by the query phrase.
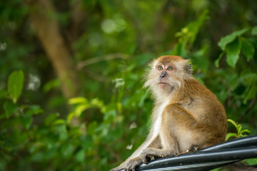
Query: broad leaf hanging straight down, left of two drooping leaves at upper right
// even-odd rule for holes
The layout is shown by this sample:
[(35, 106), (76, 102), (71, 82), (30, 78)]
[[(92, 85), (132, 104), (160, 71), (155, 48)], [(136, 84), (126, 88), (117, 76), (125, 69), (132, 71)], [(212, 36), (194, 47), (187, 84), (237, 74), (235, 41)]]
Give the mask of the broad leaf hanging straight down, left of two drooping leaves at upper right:
[(241, 43), (238, 40), (238, 38), (226, 46), (226, 56), (227, 56), (226, 61), (228, 65), (233, 68), (235, 68), (236, 63), (239, 59), (240, 48), (241, 48)]

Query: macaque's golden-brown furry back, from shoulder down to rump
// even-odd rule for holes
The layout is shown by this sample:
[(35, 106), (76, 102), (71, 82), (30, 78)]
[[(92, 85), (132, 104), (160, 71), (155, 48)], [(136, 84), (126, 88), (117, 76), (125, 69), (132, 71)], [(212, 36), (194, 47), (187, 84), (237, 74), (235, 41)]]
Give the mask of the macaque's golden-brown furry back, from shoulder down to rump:
[(210, 131), (207, 140), (211, 145), (225, 141), (227, 130), (226, 111), (223, 105), (206, 86), (189, 79), (185, 86), (191, 103), (186, 107), (198, 123), (206, 125), (206, 129)]

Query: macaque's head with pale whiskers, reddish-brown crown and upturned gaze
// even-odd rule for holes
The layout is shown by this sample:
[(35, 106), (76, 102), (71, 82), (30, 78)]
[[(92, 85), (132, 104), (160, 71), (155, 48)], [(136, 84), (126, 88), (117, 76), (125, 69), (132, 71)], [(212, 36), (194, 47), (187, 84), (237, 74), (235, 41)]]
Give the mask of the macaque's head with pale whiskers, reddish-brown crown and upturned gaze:
[(161, 56), (150, 63), (144, 87), (149, 87), (156, 98), (171, 95), (191, 78), (191, 64), (180, 56)]

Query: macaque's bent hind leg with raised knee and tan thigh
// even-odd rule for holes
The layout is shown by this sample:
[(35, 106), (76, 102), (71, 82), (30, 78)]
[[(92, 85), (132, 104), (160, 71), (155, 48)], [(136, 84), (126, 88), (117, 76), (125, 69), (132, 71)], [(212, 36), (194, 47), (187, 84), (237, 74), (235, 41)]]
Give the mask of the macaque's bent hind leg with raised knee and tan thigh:
[[(178, 104), (171, 104), (165, 108), (162, 124), (176, 137), (179, 152), (216, 144), (218, 128), (198, 123), (192, 113)], [(161, 141), (166, 140), (165, 138), (161, 136)]]

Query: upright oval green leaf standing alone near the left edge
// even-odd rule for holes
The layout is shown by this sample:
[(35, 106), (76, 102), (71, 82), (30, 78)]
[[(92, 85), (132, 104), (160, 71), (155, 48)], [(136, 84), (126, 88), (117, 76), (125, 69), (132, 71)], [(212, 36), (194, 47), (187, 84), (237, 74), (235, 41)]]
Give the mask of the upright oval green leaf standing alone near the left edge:
[(23, 71), (14, 71), (8, 78), (8, 93), (14, 103), (21, 95), (22, 88), (24, 86), (24, 73)]

